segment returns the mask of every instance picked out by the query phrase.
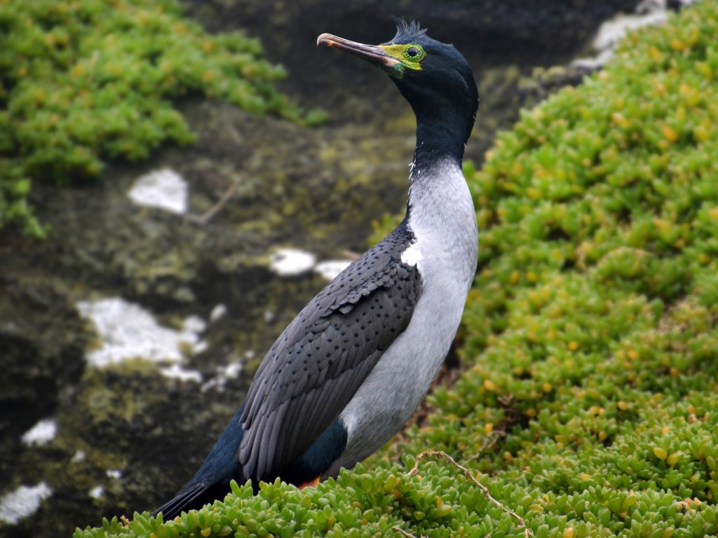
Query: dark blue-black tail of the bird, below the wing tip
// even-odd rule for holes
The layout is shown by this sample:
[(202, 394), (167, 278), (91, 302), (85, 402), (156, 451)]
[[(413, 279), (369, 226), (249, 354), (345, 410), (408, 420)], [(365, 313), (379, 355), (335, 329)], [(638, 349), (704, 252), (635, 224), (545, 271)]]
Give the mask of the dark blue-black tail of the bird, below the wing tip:
[(152, 512), (157, 516), (162, 512), (164, 521), (169, 521), (182, 514), (183, 511), (200, 509), (216, 499), (224, 499), (230, 492), (232, 480), (244, 482), (239, 468), (237, 454), (244, 430), (240, 423), (244, 404), (239, 407), (227, 429), (215, 443), (205, 463), (195, 473), (192, 480), (185, 484), (173, 499), (167, 501)]

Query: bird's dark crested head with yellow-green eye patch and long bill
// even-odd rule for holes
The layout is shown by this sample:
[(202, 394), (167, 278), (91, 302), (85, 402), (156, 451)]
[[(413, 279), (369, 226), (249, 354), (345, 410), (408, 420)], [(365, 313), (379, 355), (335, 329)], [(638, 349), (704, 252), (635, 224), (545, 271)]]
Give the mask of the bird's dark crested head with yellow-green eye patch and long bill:
[(465, 143), (479, 103), (469, 63), (452, 44), (426, 35), (418, 23), (395, 20), (396, 35), (386, 43), (370, 45), (322, 34), (317, 44), (349, 52), (388, 73), (418, 121), (453, 127)]

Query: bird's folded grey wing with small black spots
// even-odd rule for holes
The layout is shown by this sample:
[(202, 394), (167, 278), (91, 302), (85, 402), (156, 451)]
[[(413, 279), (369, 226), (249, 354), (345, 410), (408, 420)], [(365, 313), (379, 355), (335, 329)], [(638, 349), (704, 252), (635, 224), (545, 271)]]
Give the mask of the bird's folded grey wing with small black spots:
[(413, 235), (400, 226), (327, 285), (261, 362), (241, 417), (246, 478), (273, 479), (337, 420), (411, 320), (421, 293), (401, 262)]

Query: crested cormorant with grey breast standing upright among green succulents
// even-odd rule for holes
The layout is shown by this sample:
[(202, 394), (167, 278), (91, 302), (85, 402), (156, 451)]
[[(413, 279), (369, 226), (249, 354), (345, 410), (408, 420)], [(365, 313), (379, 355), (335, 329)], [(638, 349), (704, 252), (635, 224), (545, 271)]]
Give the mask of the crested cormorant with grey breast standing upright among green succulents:
[(229, 483), (300, 488), (381, 448), (429, 391), (475, 276), (478, 230), (462, 173), (478, 92), (452, 44), (395, 19), (383, 44), (321, 34), (317, 45), (378, 67), (416, 115), (404, 220), (309, 301), (261, 361), (246, 400), (195, 476), (153, 512), (223, 499)]

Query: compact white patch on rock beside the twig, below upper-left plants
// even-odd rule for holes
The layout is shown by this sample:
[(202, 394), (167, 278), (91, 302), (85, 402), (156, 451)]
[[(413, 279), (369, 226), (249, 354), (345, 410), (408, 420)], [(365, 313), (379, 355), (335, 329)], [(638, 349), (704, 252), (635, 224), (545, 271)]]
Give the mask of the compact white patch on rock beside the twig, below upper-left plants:
[(188, 191), (187, 181), (174, 170), (166, 168), (139, 177), (127, 195), (138, 205), (185, 213)]

